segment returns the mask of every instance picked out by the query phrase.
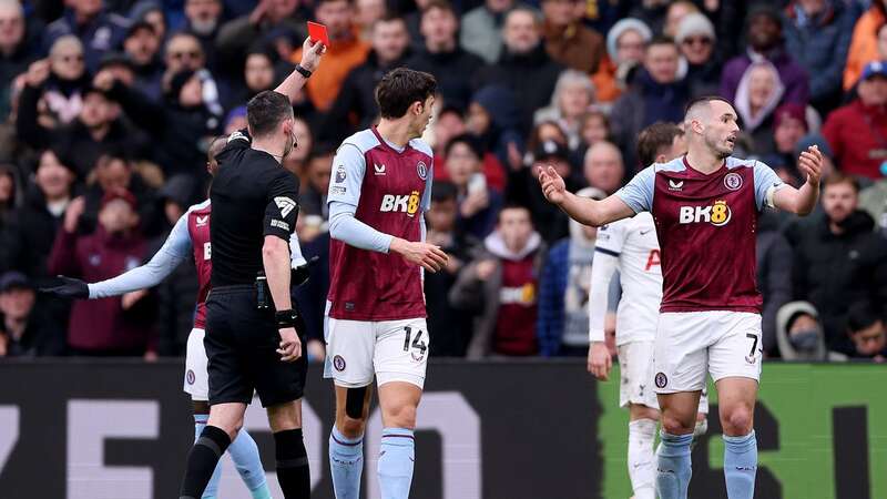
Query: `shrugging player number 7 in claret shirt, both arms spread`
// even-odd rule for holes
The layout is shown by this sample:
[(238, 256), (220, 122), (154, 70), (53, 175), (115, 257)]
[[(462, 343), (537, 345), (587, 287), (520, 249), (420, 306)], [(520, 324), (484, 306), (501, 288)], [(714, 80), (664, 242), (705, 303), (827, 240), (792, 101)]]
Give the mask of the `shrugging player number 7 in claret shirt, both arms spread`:
[(758, 161), (731, 156), (740, 132), (733, 105), (694, 100), (684, 118), (686, 155), (655, 163), (603, 201), (567, 191), (549, 166), (539, 175), (546, 197), (571, 217), (601, 226), (642, 211), (653, 214), (662, 248), (663, 298), (653, 347), (662, 409), (656, 493), (686, 498), (690, 445), (706, 375), (718, 393), (727, 496), (754, 496), (757, 442), (753, 414), (761, 377), (761, 307), (755, 283), (755, 230), (765, 207), (810, 213), (823, 156), (801, 153), (799, 189)]

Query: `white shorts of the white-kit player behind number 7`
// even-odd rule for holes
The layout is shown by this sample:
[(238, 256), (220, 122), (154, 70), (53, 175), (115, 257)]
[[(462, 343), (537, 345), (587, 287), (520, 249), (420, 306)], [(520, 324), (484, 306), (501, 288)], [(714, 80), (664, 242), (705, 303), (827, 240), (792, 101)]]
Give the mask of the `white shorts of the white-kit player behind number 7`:
[[(619, 346), (619, 407), (635, 404), (659, 410), (653, 389), (653, 342), (631, 342)], [(702, 390), (700, 409), (708, 414), (708, 390)]]

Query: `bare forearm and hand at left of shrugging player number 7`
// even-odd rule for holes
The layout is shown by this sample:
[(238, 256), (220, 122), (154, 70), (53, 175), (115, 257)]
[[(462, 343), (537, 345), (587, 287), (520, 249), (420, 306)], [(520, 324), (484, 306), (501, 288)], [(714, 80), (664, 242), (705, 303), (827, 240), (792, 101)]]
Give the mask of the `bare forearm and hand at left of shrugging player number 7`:
[(634, 216), (634, 211), (616, 196), (603, 201), (579, 197), (567, 190), (563, 179), (548, 166), (539, 173), (539, 184), (546, 198), (557, 204), (564, 213), (579, 223), (600, 227), (618, 220)]

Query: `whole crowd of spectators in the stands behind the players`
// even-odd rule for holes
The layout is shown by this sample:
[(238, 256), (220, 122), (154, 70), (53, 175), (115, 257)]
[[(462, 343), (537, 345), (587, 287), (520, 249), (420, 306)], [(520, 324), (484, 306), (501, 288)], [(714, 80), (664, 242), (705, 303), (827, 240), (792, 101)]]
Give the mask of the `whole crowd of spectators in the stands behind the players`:
[(245, 126), (315, 20), (330, 47), (283, 162), (303, 252), (322, 262), (294, 289), (313, 340), (336, 147), (405, 65), (439, 90), (427, 225), (450, 258), (426, 274), (432, 355), (584, 356), (597, 232), (546, 202), (538, 169), (602, 198), (648, 166), (645, 128), (720, 94), (743, 130), (734, 155), (795, 185), (802, 150), (826, 155), (814, 214), (759, 220), (766, 356), (887, 357), (887, 1), (451, 1), (0, 0), (0, 355), (184, 354), (193, 264), (120, 298), (37, 289), (144, 263), (206, 198), (210, 144)]

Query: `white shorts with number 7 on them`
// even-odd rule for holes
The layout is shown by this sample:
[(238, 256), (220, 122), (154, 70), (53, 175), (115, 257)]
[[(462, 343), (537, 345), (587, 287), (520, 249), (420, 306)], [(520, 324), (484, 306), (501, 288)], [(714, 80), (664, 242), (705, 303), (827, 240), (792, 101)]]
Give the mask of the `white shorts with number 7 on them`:
[(761, 315), (705, 310), (663, 313), (653, 348), (657, 394), (699, 391), (706, 375), (761, 380)]

